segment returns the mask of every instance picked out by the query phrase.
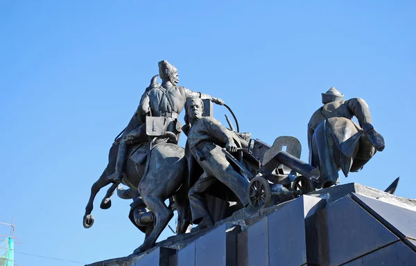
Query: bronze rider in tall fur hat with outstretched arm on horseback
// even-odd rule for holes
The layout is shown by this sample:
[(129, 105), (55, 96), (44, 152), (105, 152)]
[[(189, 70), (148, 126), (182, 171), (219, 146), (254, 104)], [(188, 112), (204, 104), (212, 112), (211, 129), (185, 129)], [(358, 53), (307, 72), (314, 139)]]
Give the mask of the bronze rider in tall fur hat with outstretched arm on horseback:
[(224, 104), (223, 100), (219, 98), (212, 98), (208, 94), (202, 94), (182, 86), (177, 86), (179, 82), (177, 69), (166, 60), (159, 62), (159, 76), (162, 79), (162, 85), (155, 85), (153, 83), (154, 85), (150, 85), (146, 89), (144, 96), (141, 97), (139, 108), (135, 114), (139, 118), (139, 121), (142, 121), (141, 125), (139, 124), (135, 129), (120, 139), (114, 175), (107, 177), (113, 183), (119, 183), (123, 178), (129, 146), (148, 140), (146, 123), (144, 123), (146, 116), (164, 117), (167, 131), (179, 136), (180, 125), (177, 118), (180, 112), (182, 112), (182, 109), (184, 109), (185, 102), (188, 98), (198, 97), (209, 99), (218, 105)]

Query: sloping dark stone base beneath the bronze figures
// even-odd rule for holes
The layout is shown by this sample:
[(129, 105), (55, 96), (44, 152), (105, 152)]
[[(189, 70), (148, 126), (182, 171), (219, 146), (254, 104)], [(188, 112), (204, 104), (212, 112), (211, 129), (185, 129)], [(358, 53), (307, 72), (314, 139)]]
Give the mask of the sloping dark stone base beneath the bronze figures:
[(415, 211), (415, 199), (345, 184), (89, 266), (416, 265)]

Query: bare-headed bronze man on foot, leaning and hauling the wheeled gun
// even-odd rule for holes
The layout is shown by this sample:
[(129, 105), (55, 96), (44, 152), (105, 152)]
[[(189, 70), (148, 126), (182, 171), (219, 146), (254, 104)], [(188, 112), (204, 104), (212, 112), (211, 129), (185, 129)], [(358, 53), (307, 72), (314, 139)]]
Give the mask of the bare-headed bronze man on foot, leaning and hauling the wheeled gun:
[(193, 224), (198, 229), (214, 225), (203, 195), (220, 181), (236, 195), (243, 206), (248, 205), (248, 180), (240, 175), (227, 161), (223, 148), (236, 152), (237, 147), (245, 146), (234, 132), (223, 127), (215, 118), (202, 117), (204, 105), (200, 98), (190, 98), (185, 105), (185, 120), (191, 123), (187, 143), (204, 172), (189, 190), (189, 202)]

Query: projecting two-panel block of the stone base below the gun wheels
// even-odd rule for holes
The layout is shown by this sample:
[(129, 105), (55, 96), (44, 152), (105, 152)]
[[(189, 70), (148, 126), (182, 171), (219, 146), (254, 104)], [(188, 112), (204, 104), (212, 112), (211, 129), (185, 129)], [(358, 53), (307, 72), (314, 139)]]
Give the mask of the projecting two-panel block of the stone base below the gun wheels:
[(323, 206), (304, 195), (239, 233), (239, 265), (318, 264), (315, 214)]

